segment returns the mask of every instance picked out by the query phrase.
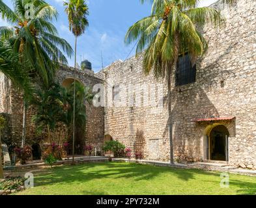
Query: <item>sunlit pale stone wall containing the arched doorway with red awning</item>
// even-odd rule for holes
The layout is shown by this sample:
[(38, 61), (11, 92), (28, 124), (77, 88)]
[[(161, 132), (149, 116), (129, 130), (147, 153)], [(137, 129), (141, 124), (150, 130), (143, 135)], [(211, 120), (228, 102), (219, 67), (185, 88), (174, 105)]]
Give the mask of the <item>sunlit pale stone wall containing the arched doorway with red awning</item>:
[[(212, 6), (223, 8), (221, 3)], [(172, 86), (175, 159), (205, 160), (205, 129), (220, 124), (229, 130), (230, 164), (256, 168), (256, 2), (240, 0), (230, 10), (223, 8), (222, 14), (226, 21), (221, 29), (208, 26), (203, 30), (209, 47), (197, 62), (196, 82)], [(96, 76), (106, 83), (111, 80), (113, 86), (164, 83), (164, 110), (151, 114), (143, 107), (107, 107), (105, 133), (132, 149), (140, 137), (145, 159), (168, 161), (166, 84), (144, 75), (141, 65), (142, 57), (119, 60)], [(227, 116), (235, 119), (195, 122)]]

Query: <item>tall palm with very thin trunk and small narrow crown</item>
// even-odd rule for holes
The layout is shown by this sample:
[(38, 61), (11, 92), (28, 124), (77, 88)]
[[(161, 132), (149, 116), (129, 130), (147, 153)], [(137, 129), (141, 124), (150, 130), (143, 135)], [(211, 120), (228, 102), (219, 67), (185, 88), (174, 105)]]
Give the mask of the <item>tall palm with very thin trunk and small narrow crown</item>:
[[(85, 29), (88, 27), (88, 19), (87, 16), (89, 15), (89, 10), (87, 3), (85, 0), (69, 0), (68, 2), (64, 2), (65, 11), (68, 15), (68, 22), (69, 22), (69, 29), (75, 36), (75, 64), (74, 68), (76, 68), (76, 53), (77, 53), (77, 43), (78, 43), (78, 36), (81, 36)], [(76, 83), (76, 79), (74, 79), (74, 83)], [(76, 85), (74, 85), (74, 104), (73, 104), (73, 157), (72, 163), (74, 164), (74, 146), (75, 146), (75, 107), (76, 107)]]

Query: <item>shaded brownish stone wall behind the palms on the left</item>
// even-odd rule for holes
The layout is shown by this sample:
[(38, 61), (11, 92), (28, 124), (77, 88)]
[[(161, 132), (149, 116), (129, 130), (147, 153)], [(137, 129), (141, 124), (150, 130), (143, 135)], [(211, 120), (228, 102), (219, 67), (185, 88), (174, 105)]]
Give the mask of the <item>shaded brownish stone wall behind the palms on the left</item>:
[[(73, 68), (67, 68), (61, 66), (58, 70), (56, 79), (59, 83), (63, 84), (66, 79), (72, 79), (76, 77), (78, 81), (85, 86), (92, 88), (95, 84), (102, 81), (93, 76), (93, 72), (85, 70), (79, 71)], [(0, 76), (0, 92), (1, 92), (1, 105), (0, 112), (10, 113), (10, 134), (5, 135), (10, 142), (17, 145), (21, 145), (22, 136), (22, 122), (23, 122), (23, 96), (16, 89), (12, 88), (10, 81), (3, 75)], [(35, 131), (35, 125), (31, 122), (32, 116), (36, 114), (36, 110), (33, 107), (29, 107), (27, 110), (27, 123), (26, 123), (26, 139), (27, 143), (47, 143), (48, 136), (45, 131), (42, 131), (41, 135), (38, 135)], [(102, 107), (96, 108), (87, 104), (87, 124), (86, 124), (85, 140), (87, 144), (92, 144), (101, 150), (104, 139), (104, 109)], [(61, 139), (65, 139), (62, 134)]]

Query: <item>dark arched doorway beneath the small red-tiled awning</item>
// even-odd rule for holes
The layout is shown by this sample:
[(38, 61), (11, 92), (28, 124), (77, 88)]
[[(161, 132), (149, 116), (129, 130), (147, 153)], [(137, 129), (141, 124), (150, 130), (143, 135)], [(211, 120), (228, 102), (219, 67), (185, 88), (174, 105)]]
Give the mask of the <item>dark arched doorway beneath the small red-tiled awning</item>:
[(229, 131), (225, 125), (216, 125), (208, 131), (207, 159), (229, 161)]

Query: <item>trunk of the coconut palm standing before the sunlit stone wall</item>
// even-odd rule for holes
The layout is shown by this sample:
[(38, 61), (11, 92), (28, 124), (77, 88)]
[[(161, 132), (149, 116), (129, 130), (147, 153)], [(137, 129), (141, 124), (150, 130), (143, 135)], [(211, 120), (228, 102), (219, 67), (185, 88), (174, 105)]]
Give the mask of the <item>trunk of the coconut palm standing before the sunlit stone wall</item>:
[(173, 159), (173, 120), (172, 120), (172, 112), (171, 112), (171, 68), (168, 69), (167, 72), (167, 99), (168, 99), (168, 121), (169, 121), (169, 141), (170, 141), (170, 161), (171, 164), (174, 164)]

